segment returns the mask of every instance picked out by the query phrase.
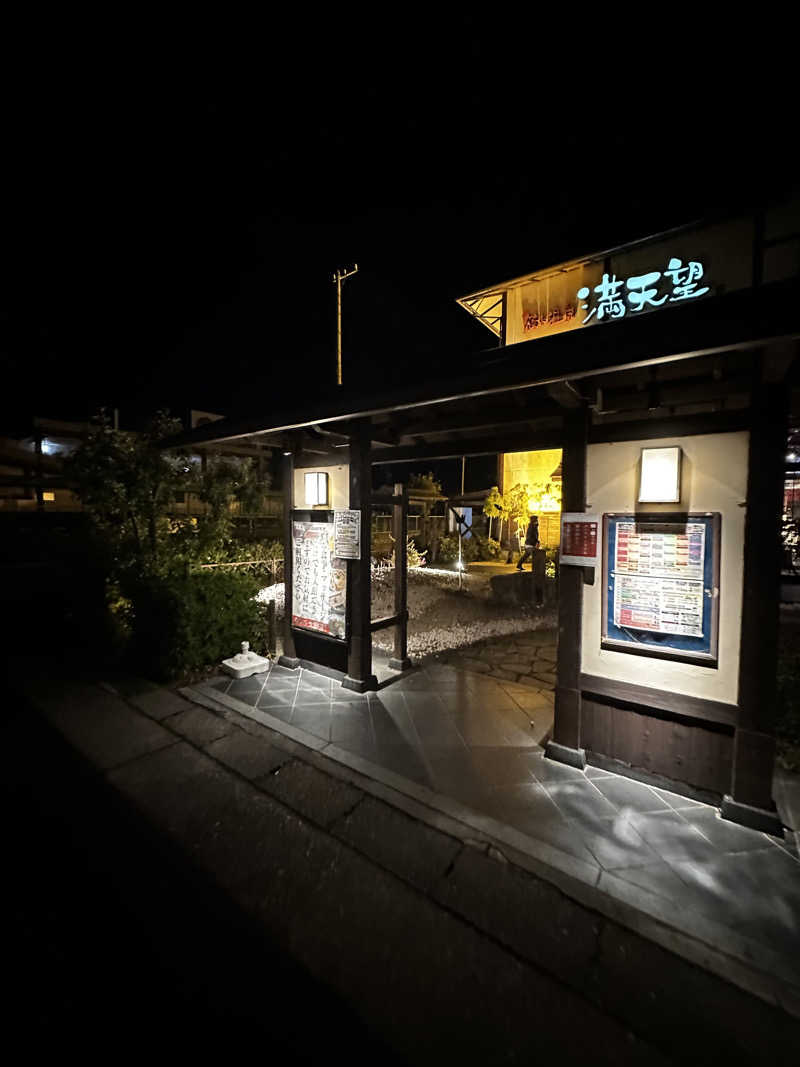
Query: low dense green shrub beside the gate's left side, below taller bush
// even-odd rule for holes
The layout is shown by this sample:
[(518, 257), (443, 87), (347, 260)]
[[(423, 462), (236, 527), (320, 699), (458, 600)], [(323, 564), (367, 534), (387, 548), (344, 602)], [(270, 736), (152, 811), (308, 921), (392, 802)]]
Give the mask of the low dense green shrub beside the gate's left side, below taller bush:
[(239, 651), (263, 652), (266, 607), (253, 600), (260, 583), (236, 568), (150, 573), (126, 582), (131, 651), (145, 674), (171, 680)]

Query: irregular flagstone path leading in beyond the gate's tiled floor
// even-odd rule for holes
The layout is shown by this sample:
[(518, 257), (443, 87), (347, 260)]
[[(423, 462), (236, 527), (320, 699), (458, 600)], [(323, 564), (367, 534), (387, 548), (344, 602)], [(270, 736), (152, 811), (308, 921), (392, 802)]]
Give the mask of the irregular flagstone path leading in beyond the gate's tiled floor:
[(444, 652), (435, 658), (437, 663), (485, 674), (486, 678), (551, 690), (556, 685), (557, 642), (556, 630), (532, 630), (490, 637), (465, 649)]

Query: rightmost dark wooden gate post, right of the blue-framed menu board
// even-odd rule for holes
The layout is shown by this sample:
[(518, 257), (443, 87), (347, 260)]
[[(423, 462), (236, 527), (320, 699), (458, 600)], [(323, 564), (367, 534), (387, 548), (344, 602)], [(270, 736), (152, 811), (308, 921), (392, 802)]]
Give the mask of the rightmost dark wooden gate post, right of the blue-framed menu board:
[[(769, 375), (764, 357), (765, 377)], [(731, 795), (724, 818), (781, 833), (772, 801), (778, 631), (781, 599), (781, 512), (789, 389), (762, 375), (752, 394), (748, 455), (745, 576), (739, 647), (739, 713)], [(722, 590), (724, 596), (724, 590)]]

